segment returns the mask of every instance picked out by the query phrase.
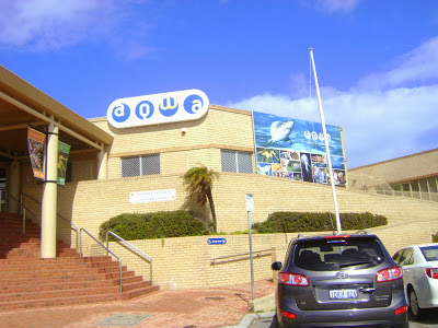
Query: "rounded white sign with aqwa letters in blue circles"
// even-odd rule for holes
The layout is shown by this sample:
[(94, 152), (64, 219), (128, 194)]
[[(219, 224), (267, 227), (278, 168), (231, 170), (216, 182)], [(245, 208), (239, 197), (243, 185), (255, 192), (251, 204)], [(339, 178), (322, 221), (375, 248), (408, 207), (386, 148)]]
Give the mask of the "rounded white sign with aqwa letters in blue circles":
[(209, 101), (200, 90), (159, 93), (114, 101), (106, 119), (115, 128), (194, 120), (207, 114)]

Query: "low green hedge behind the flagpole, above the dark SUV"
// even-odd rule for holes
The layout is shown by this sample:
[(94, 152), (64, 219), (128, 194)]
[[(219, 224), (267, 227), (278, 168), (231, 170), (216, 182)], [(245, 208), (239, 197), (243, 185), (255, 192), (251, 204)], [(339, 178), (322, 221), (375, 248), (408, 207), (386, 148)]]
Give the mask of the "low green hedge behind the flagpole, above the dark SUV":
[[(339, 216), (343, 230), (365, 230), (388, 224), (385, 216), (369, 212), (341, 213)], [(252, 229), (258, 233), (335, 231), (336, 216), (328, 212), (275, 212), (266, 221), (254, 223)]]

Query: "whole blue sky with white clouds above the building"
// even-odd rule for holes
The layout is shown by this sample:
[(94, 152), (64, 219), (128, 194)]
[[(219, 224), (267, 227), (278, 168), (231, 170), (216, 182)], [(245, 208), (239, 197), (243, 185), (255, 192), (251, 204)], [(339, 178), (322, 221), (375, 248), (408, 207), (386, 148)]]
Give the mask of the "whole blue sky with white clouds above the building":
[(320, 121), (312, 47), (348, 168), (438, 147), (436, 0), (0, 0), (0, 63), (85, 118), (199, 89)]

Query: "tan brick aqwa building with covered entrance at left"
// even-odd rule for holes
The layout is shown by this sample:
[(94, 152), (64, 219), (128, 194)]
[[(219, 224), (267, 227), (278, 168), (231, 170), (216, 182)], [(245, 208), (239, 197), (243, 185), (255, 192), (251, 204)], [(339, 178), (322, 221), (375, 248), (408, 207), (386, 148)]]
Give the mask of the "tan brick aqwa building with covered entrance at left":
[[(203, 106), (206, 104), (203, 95), (194, 94), (191, 99), (193, 104), (198, 101), (203, 101)], [(137, 105), (131, 105), (130, 101), (123, 99), (131, 108), (134, 118), (135, 115), (139, 119), (148, 118), (151, 105), (153, 110), (160, 110), (153, 97), (150, 98), (151, 105), (145, 103), (148, 99), (137, 98)], [(120, 105), (123, 102), (110, 106), (116, 114), (115, 125), (123, 125), (131, 117), (125, 117), (127, 108)], [(165, 108), (161, 109), (175, 108), (170, 98), (163, 104)], [(80, 248), (85, 255), (95, 254), (102, 251), (101, 246), (85, 232), (99, 236), (100, 225), (120, 213), (189, 209), (209, 221), (209, 209), (187, 199), (182, 180), (189, 167), (203, 164), (220, 173), (212, 192), (218, 231), (226, 234), (228, 243), (207, 247), (208, 236), (200, 236), (136, 241), (135, 245), (147, 249), (154, 259), (153, 280), (164, 289), (245, 282), (247, 278), (239, 270), (240, 261), (211, 265), (211, 259), (247, 251), (245, 235), (227, 235), (249, 230), (246, 194), (252, 194), (254, 200), (252, 222), (265, 221), (275, 211), (334, 212), (332, 190), (327, 177), (323, 176), (326, 165), (321, 150), (323, 138), (321, 140), (314, 122), (288, 118), (264, 126), (254, 121), (252, 112), (217, 105), (204, 109), (201, 116), (192, 120), (184, 118), (165, 124), (155, 121), (149, 126), (135, 122), (134, 126), (115, 127), (108, 124), (112, 110), (106, 117), (84, 119), (0, 67), (2, 210), (19, 212), (21, 200), (26, 215), (42, 226), (44, 258), (55, 257), (56, 238)], [(274, 119), (263, 115), (262, 118)], [(308, 124), (311, 127), (306, 128)], [(293, 136), (290, 132), (292, 126), (303, 132), (302, 142), (297, 142), (296, 137), (293, 140), (289, 138)], [(43, 161), (47, 172), (45, 180), (35, 178), (35, 167), (31, 166), (30, 127), (44, 132), (42, 134), (47, 138), (47, 150), (42, 156), (46, 159)], [(393, 238), (394, 234), (410, 235), (404, 241), (412, 243), (429, 241), (430, 234), (438, 231), (438, 203), (349, 188), (353, 183), (345, 166), (342, 129), (332, 127), (330, 131), (336, 140), (332, 160), (338, 174), (339, 211), (385, 215), (390, 225), (379, 230), (379, 236), (390, 251), (404, 246), (401, 238)], [(267, 133), (272, 140), (263, 140)], [(306, 143), (306, 140), (311, 140), (309, 149), (297, 151), (295, 147)], [(59, 141), (71, 145), (64, 186), (57, 184)], [(301, 157), (302, 154), (308, 154), (307, 160)], [(318, 179), (307, 181), (303, 178), (307, 168)], [(415, 225), (412, 225), (413, 216)], [(291, 237), (290, 234), (258, 235), (254, 237), (254, 245), (257, 245), (254, 249), (277, 247), (277, 258), (281, 259)], [(137, 262), (129, 254), (126, 256), (128, 259), (124, 262), (129, 262), (136, 272), (146, 277), (151, 273), (143, 262)], [(269, 260), (261, 257), (256, 263), (260, 268), (256, 279), (270, 274)], [(180, 268), (177, 273), (172, 269), (175, 265)], [(203, 274), (199, 276), (199, 271)], [(195, 276), (199, 279), (189, 279)]]

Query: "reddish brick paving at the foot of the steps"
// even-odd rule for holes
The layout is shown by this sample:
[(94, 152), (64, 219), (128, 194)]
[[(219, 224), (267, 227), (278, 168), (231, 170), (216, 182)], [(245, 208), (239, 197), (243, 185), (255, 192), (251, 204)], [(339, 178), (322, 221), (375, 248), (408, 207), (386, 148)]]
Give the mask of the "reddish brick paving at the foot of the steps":
[[(255, 282), (255, 298), (269, 295), (270, 280)], [(251, 283), (203, 290), (157, 291), (142, 297), (50, 308), (2, 312), (0, 327), (251, 327), (254, 319), (272, 316), (252, 313)]]

